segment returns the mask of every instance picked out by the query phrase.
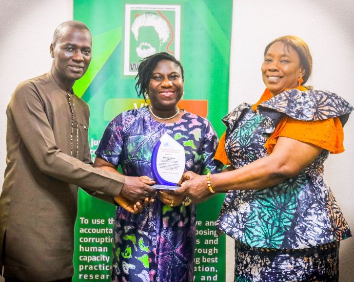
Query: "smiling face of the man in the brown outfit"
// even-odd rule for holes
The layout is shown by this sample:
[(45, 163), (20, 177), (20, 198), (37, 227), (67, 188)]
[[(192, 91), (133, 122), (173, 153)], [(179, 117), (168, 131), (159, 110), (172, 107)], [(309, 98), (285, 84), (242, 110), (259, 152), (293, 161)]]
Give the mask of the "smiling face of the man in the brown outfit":
[(86, 29), (67, 27), (50, 45), (54, 58), (52, 74), (61, 88), (71, 89), (75, 80), (81, 78), (91, 61), (92, 37)]

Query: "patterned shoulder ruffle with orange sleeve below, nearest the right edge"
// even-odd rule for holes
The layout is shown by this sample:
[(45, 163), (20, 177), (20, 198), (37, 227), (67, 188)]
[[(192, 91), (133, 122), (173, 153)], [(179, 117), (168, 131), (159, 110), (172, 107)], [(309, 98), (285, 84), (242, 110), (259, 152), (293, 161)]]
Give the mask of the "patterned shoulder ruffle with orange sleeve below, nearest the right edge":
[(262, 102), (261, 115), (285, 114), (265, 147), (271, 153), (278, 137), (311, 143), (338, 154), (344, 151), (343, 126), (354, 108), (342, 97), (328, 91), (291, 89)]

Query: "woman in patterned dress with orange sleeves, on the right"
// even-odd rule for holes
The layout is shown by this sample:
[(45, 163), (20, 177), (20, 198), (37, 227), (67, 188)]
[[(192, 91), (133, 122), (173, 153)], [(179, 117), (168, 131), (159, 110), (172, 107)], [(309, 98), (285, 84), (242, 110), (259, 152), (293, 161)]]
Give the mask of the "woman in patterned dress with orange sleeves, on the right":
[[(215, 159), (230, 167), (192, 172), (176, 193), (201, 202), (227, 192), (217, 228), (235, 239), (235, 281), (337, 281), (339, 241), (349, 227), (323, 180), (329, 153), (341, 153), (353, 107), (340, 96), (303, 86), (311, 74), (307, 44), (283, 36), (266, 47), (266, 90), (223, 121)], [(211, 189), (211, 190), (210, 190)]]

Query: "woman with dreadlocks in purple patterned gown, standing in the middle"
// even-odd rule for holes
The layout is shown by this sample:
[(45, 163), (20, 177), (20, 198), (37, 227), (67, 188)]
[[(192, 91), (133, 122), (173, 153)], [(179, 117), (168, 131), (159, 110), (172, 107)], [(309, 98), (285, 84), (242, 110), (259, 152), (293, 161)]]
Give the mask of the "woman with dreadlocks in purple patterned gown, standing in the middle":
[[(185, 148), (185, 171), (217, 172), (222, 164), (213, 160), (218, 137), (210, 122), (177, 107), (183, 96), (181, 63), (158, 53), (140, 63), (138, 76), (138, 95), (147, 95), (151, 105), (123, 112), (109, 123), (95, 165), (115, 171), (121, 166), (125, 175), (153, 179), (152, 150), (168, 133)], [(137, 207), (116, 199), (121, 206), (114, 221), (112, 281), (193, 280), (195, 204), (182, 205), (183, 200), (166, 192)]]

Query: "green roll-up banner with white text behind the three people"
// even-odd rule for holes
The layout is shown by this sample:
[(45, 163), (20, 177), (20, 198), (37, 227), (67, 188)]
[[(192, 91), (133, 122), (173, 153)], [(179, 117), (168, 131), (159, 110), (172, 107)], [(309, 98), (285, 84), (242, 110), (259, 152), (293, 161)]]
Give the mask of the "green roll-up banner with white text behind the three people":
[[(232, 0), (74, 0), (74, 19), (93, 36), (92, 61), (74, 85), (91, 111), (92, 158), (103, 131), (119, 113), (141, 107), (139, 61), (155, 52), (178, 58), (185, 71), (179, 106), (207, 117), (219, 136), (228, 109)], [(194, 281), (225, 281), (225, 236), (215, 233), (223, 196), (199, 204)], [(80, 190), (73, 281), (110, 281), (115, 206)]]

